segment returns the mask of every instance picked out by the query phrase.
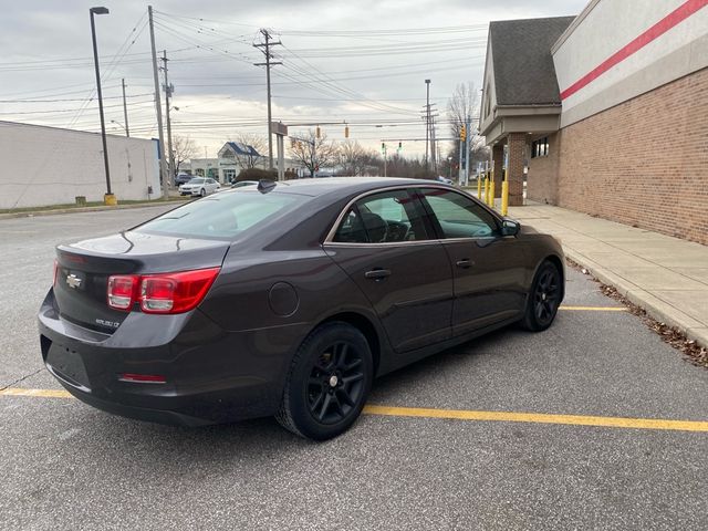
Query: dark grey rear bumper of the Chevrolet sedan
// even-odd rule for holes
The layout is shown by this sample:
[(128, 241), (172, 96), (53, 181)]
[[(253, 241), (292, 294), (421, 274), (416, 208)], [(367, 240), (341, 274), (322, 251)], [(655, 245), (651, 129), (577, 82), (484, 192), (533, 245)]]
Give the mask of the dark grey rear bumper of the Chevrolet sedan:
[[(281, 333), (278, 329), (227, 332), (196, 310), (180, 315), (129, 314), (112, 335), (103, 335), (61, 319), (52, 296), (50, 291), (39, 314), (42, 357), (59, 382), (86, 404), (131, 418), (186, 426), (278, 410), (300, 343), (295, 330), (288, 331), (293, 341), (285, 346), (268, 341), (269, 334)], [(121, 381), (125, 373), (160, 375), (165, 383)]]

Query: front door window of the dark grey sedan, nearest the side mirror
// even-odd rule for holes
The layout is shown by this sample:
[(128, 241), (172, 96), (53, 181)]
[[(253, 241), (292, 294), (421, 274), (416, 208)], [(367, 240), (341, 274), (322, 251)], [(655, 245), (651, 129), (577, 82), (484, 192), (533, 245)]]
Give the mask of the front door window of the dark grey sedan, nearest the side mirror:
[(497, 235), (494, 217), (469, 197), (440, 188), (426, 188), (420, 195), (437, 219), (444, 238), (491, 238)]

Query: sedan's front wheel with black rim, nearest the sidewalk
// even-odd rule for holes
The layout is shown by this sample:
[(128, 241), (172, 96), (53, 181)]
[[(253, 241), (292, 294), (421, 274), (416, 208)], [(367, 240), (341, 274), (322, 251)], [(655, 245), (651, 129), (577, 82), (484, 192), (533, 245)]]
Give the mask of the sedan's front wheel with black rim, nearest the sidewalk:
[(544, 260), (535, 272), (521, 326), (531, 332), (541, 332), (551, 324), (558, 313), (562, 296), (562, 274), (550, 260)]

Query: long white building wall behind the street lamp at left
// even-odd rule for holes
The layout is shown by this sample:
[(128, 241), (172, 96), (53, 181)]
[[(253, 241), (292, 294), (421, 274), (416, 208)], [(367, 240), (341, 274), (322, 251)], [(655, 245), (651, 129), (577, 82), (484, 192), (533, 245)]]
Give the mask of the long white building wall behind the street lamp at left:
[[(118, 202), (160, 195), (157, 143), (107, 136), (111, 188)], [(148, 187), (153, 192), (148, 196)], [(0, 122), (0, 208), (102, 201), (106, 192), (101, 135)]]

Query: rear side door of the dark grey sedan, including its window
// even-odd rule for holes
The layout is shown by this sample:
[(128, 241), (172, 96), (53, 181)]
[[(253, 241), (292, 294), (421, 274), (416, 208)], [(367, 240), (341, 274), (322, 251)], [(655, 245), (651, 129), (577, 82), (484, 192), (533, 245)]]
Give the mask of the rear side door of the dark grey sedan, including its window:
[(351, 205), (324, 246), (364, 292), (396, 352), (450, 337), (451, 269), (428, 223), (406, 189), (378, 191)]

